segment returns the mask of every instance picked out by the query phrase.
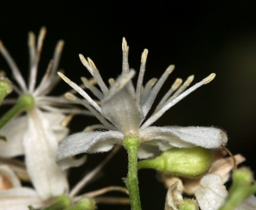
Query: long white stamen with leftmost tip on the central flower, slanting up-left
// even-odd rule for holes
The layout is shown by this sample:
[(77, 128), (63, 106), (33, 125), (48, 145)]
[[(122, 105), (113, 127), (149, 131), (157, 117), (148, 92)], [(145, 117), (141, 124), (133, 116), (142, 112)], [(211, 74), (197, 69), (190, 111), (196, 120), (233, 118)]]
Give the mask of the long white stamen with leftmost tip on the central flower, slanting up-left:
[(91, 98), (87, 93), (85, 93), (85, 91), (83, 91), (83, 89), (81, 89), (81, 87), (79, 87), (73, 81), (68, 79), (68, 77), (66, 77), (64, 74), (61, 74), (60, 72), (58, 72), (58, 75), (60, 75), (60, 77), (66, 83), (68, 83), (68, 85), (70, 85), (70, 87), (75, 89), (75, 91), (77, 91), (77, 93), (79, 93), (81, 96), (83, 96), (83, 98), (85, 98), (85, 100), (87, 100), (89, 102), (89, 104), (91, 104), (91, 106), (93, 106), (93, 108), (95, 108), (95, 110), (97, 110), (98, 112), (100, 112), (100, 114), (102, 114), (102, 110), (101, 110), (100, 106), (98, 106), (98, 104), (96, 104), (96, 102), (93, 100), (93, 98)]

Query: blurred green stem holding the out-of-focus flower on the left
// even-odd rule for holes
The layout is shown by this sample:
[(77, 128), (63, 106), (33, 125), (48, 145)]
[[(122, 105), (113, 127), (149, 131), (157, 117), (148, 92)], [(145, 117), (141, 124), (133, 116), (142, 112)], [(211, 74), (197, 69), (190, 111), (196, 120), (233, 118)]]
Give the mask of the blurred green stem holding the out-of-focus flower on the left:
[(0, 129), (8, 122), (12, 117), (17, 116), (20, 112), (30, 110), (34, 106), (33, 96), (32, 95), (21, 95), (18, 98), (17, 104), (12, 106), (12, 108), (5, 113), (0, 119)]

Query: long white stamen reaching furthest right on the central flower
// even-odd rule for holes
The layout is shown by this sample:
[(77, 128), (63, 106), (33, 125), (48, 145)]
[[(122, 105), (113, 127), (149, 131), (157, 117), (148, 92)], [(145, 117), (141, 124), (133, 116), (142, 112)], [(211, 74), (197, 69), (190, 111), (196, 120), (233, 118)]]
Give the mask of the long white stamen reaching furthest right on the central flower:
[[(145, 121), (145, 123), (143, 123), (143, 125), (140, 127), (140, 129), (144, 129), (144, 128), (152, 125), (152, 123), (154, 123), (156, 120), (158, 120), (158, 118), (160, 118), (167, 110), (169, 110), (169, 108), (171, 108), (172, 106), (177, 104), (177, 102), (182, 100), (184, 97), (186, 97), (187, 95), (189, 95), (190, 93), (192, 93), (196, 89), (198, 89), (198, 87), (201, 87), (202, 85), (205, 85), (205, 84), (209, 83), (211, 80), (213, 80), (214, 77), (215, 77), (215, 74), (209, 75), (208, 77), (206, 77), (205, 79), (203, 79), (199, 83), (196, 83), (196, 85), (193, 85), (192, 87), (190, 87), (189, 89), (184, 91), (181, 95), (177, 96), (176, 98), (174, 98), (170, 102), (166, 103), (164, 106), (161, 107), (161, 109), (158, 112), (156, 112), (151, 117), (149, 117)], [(206, 81), (206, 83), (205, 83), (205, 81)]]

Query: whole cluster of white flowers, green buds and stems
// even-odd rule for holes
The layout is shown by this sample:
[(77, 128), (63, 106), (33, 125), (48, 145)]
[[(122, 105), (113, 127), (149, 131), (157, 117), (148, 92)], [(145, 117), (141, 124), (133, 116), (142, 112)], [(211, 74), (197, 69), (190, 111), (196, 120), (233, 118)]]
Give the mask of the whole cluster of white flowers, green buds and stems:
[[(37, 70), (45, 34), (44, 27), (37, 40), (34, 33), (29, 33), (28, 83), (0, 41), (0, 53), (14, 77), (14, 82), (11, 82), (0, 72), (0, 103), (14, 104), (0, 118), (1, 209), (93, 210), (96, 208), (95, 203), (104, 202), (130, 203), (131, 209), (140, 210), (137, 171), (144, 168), (156, 169), (161, 173), (168, 189), (166, 210), (255, 209), (256, 198), (252, 195), (256, 192), (256, 184), (253, 175), (249, 169), (236, 171), (236, 166), (245, 158), (240, 154), (232, 156), (224, 147), (228, 138), (222, 129), (153, 125), (169, 108), (211, 82), (215, 74), (210, 74), (192, 87), (189, 86), (194, 75), (184, 82), (177, 78), (156, 104), (158, 93), (173, 72), (174, 65), (170, 65), (159, 79), (153, 78), (144, 84), (148, 55), (145, 49), (137, 82), (133, 85), (136, 72), (129, 68), (129, 46), (123, 38), (121, 75), (117, 79), (109, 79), (107, 85), (93, 60), (79, 54), (83, 66), (93, 76), (93, 79), (82, 77), (83, 85), (79, 86), (58, 70), (64, 46), (64, 41), (58, 41), (53, 59), (37, 85)], [(50, 96), (60, 78), (74, 90), (64, 95)], [(7, 97), (12, 90), (18, 95), (16, 98)], [(75, 92), (83, 98), (72, 94)], [(81, 105), (86, 109), (82, 110)], [(154, 110), (152, 107), (155, 107)], [(95, 116), (100, 123), (68, 136), (67, 122), (74, 114)], [(118, 146), (114, 148), (116, 144)], [(116, 154), (120, 145), (128, 153), (128, 173), (123, 179), (126, 188), (107, 186), (78, 195)], [(224, 148), (230, 158), (224, 157)], [(74, 156), (110, 150), (110, 154), (95, 169), (75, 186), (69, 186), (68, 168), (81, 165), (87, 158), (83, 156), (77, 159)], [(138, 162), (138, 159), (143, 160)], [(230, 178), (231, 170), (235, 171), (232, 175), (234, 183), (227, 191), (224, 182)], [(22, 181), (31, 184), (23, 186)], [(110, 191), (123, 192), (129, 195), (129, 199), (98, 198)], [(188, 200), (183, 198), (184, 194), (194, 197)]]

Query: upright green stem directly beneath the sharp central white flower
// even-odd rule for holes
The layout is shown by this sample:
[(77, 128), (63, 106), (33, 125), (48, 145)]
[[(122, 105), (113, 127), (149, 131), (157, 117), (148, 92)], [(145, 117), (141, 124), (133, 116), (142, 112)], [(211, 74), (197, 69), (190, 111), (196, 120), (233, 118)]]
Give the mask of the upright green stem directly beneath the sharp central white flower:
[(138, 182), (138, 148), (140, 146), (139, 137), (125, 137), (123, 146), (128, 152), (128, 174), (125, 184), (129, 190), (129, 198), (132, 210), (140, 210), (140, 195)]

